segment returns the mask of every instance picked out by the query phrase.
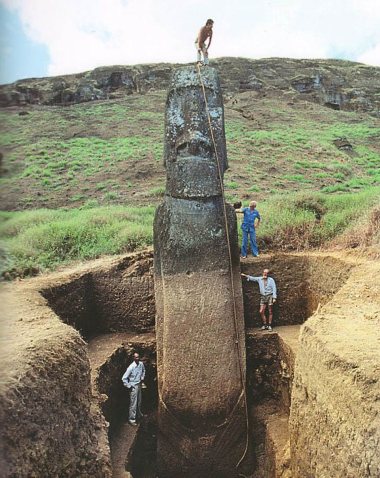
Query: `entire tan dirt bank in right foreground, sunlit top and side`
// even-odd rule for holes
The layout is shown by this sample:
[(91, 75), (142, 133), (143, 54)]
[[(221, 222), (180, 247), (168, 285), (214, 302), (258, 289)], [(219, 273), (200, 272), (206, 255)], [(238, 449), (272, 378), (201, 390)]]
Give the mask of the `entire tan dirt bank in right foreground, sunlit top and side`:
[(380, 476), (380, 264), (367, 262), (301, 327), (293, 478)]

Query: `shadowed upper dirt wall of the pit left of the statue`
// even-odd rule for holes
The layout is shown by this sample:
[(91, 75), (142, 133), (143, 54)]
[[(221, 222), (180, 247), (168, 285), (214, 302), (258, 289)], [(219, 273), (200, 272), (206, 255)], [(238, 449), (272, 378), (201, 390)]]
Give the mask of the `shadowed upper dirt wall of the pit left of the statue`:
[(84, 337), (154, 330), (153, 252), (56, 275), (41, 293), (54, 312)]

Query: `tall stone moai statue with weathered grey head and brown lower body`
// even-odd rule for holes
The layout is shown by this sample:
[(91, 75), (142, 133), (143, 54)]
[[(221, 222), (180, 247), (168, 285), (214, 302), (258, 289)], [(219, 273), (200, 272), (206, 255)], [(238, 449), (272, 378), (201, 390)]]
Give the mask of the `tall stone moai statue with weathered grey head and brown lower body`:
[[(219, 79), (214, 68), (202, 71), (223, 174), (228, 166)], [(172, 75), (164, 156), (165, 200), (154, 225), (159, 476), (232, 478), (246, 439), (237, 221), (227, 205), (239, 347), (221, 187), (194, 67)]]

